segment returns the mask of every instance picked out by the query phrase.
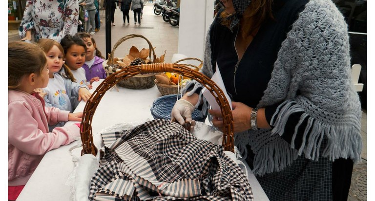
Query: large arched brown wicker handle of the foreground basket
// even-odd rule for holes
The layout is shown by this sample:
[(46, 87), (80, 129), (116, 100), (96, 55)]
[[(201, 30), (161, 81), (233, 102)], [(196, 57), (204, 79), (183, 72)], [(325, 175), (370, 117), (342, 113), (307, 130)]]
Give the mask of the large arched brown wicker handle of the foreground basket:
[(194, 69), (184, 64), (173, 64), (173, 63), (155, 63), (155, 64), (143, 64), (137, 66), (129, 66), (123, 70), (113, 73), (108, 76), (104, 81), (96, 88), (92, 93), (89, 100), (83, 110), (82, 117), (82, 128), (81, 128), (81, 140), (83, 150), (81, 154), (91, 153), (96, 156), (98, 150), (94, 146), (92, 138), (92, 117), (94, 112), (99, 105), (100, 100), (103, 98), (104, 93), (111, 89), (116, 83), (122, 79), (126, 79), (141, 74), (149, 73), (179, 73), (188, 78), (192, 78), (203, 86), (215, 97), (216, 102), (221, 106), (221, 114), (223, 115), (224, 123), (224, 135), (223, 135), (223, 146), (227, 151), (234, 152), (234, 140), (233, 140), (233, 116), (229, 107), (229, 102), (225, 97), (224, 92), (206, 75), (195, 71)]

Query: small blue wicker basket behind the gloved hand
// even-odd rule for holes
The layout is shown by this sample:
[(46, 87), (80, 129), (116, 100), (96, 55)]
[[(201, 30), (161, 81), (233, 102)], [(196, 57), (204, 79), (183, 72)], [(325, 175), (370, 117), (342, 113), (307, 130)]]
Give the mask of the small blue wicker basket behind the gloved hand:
[[(179, 95), (178, 98), (181, 98), (181, 95)], [(177, 94), (165, 95), (155, 99), (151, 106), (151, 114), (154, 119), (170, 120), (170, 113), (176, 101)], [(201, 110), (195, 109), (191, 117), (195, 121), (205, 122), (207, 112), (203, 114)]]

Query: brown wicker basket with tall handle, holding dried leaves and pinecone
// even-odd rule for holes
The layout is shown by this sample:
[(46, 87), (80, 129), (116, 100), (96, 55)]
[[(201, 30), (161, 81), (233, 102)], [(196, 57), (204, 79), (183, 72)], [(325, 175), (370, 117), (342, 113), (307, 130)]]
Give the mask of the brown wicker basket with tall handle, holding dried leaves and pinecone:
[[(147, 41), (149, 49), (150, 49), (148, 57), (151, 60), (151, 51), (152, 51), (153, 61), (155, 61), (155, 59), (156, 59), (155, 50), (152, 47), (151, 42), (146, 37), (144, 37), (142, 35), (130, 34), (130, 35), (127, 35), (125, 37), (120, 38), (116, 42), (116, 44), (113, 46), (112, 52), (108, 57), (108, 62), (107, 62), (108, 65), (113, 65), (113, 58), (114, 58), (114, 55), (115, 55), (116, 48), (122, 42), (124, 42), (125, 40), (130, 39), (130, 38), (134, 38), (134, 37), (141, 37), (141, 38), (143, 38)], [(108, 73), (108, 75), (112, 74), (112, 73), (109, 73), (109, 72), (107, 72), (107, 73)], [(148, 88), (151, 88), (155, 85), (154, 80), (155, 80), (155, 74), (136, 75), (136, 76), (130, 77), (129, 79), (121, 80), (119, 83), (117, 83), (117, 85), (120, 86), (120, 87), (124, 87), (124, 88), (127, 88), (127, 89), (134, 89), (134, 90), (148, 89)]]

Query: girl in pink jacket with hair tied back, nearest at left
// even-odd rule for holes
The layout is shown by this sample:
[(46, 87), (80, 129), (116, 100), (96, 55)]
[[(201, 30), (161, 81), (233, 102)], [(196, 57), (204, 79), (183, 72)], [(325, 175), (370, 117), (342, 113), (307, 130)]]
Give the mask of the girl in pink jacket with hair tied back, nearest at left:
[(34, 90), (46, 87), (48, 80), (46, 56), (38, 45), (8, 44), (8, 200), (11, 201), (17, 199), (47, 151), (80, 136), (77, 124), (48, 131), (48, 125), (81, 121), (82, 117), (82, 112), (72, 114), (54, 107), (44, 108), (43, 99)]

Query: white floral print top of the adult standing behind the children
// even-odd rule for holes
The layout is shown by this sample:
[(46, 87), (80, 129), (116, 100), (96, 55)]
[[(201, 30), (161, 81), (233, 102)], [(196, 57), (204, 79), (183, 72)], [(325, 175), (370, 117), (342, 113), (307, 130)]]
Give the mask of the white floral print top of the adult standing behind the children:
[(75, 35), (78, 31), (77, 0), (27, 0), (19, 34), (23, 38), (26, 31), (34, 29), (34, 40), (51, 38), (58, 42), (65, 35)]

